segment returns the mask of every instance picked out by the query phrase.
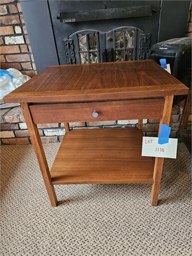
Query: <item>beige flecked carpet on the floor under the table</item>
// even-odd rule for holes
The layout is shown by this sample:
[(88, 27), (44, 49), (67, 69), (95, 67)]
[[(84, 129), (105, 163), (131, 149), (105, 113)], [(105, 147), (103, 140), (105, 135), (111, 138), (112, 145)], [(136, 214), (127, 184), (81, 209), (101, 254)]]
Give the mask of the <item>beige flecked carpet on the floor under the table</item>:
[[(48, 162), (58, 144), (45, 145)], [(50, 206), (31, 145), (2, 146), (0, 255), (192, 255), (190, 155), (166, 159), (151, 185), (57, 185)]]

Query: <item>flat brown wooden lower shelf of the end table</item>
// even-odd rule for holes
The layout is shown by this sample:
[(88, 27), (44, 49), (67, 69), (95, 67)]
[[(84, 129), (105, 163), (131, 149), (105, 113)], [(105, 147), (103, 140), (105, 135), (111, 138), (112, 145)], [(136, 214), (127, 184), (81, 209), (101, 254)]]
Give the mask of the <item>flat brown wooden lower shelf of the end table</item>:
[(141, 156), (142, 131), (106, 128), (66, 132), (51, 169), (52, 184), (152, 183), (154, 164)]

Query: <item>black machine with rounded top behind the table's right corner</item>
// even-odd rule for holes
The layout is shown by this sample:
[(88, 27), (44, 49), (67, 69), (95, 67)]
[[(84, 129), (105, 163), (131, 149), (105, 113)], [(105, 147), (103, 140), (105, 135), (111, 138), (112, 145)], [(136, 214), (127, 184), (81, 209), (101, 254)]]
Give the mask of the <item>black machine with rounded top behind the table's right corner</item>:
[(153, 45), (149, 51), (149, 58), (160, 65), (160, 59), (165, 58), (170, 64), (171, 74), (183, 82), (191, 85), (191, 38), (174, 38)]

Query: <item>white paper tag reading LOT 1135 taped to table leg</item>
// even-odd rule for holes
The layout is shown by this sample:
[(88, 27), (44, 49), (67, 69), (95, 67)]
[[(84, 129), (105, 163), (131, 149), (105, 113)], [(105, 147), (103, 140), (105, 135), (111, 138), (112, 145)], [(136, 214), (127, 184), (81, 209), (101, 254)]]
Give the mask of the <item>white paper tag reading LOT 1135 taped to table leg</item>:
[(142, 156), (176, 158), (178, 139), (169, 138), (169, 142), (158, 144), (158, 137), (142, 137)]

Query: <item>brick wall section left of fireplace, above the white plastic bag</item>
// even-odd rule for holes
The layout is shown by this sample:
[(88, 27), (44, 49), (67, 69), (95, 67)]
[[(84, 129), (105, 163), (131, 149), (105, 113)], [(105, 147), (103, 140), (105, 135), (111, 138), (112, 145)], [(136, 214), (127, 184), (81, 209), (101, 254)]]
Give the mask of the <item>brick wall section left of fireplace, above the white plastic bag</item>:
[(0, 2), (1, 69), (16, 68), (30, 77), (36, 74), (21, 4), (13, 0)]

